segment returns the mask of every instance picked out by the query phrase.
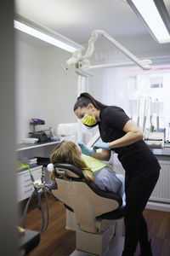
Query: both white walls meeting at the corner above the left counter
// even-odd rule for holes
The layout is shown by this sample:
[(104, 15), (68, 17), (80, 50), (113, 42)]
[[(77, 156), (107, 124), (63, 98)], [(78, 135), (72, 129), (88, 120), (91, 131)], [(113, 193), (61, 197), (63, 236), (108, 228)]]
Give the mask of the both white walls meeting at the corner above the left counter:
[(60, 64), (71, 57), (56, 47), (38, 48), (16, 38), (16, 143), (32, 131), (31, 118), (45, 119), (37, 131), (59, 123), (76, 122), (73, 105), (77, 99), (77, 75), (65, 75)]

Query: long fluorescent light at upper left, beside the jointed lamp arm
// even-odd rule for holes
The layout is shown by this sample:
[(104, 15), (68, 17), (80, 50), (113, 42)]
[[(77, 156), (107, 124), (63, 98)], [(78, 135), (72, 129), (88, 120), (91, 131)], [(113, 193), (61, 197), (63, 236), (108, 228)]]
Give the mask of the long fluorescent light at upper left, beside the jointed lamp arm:
[(26, 20), (19, 15), (16, 17), (17, 18), (14, 20), (14, 28), (21, 32), (25, 32), (34, 38), (38, 38), (48, 44), (52, 44), (69, 52), (74, 52), (76, 49), (84, 49), (82, 45), (77, 44), (69, 38), (65, 38), (45, 26), (39, 25), (31, 20)]

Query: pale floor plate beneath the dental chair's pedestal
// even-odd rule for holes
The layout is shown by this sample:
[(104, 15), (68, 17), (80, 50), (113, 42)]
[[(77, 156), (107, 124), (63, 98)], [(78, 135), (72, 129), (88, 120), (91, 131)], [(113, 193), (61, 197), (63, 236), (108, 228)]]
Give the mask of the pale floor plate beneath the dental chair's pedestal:
[(94, 254), (94, 253), (87, 253), (82, 252), (81, 250), (75, 250), (73, 253), (71, 253), (70, 256), (122, 256), (122, 250), (124, 246), (124, 236), (115, 236), (111, 239), (111, 243), (109, 246), (109, 250), (103, 254)]

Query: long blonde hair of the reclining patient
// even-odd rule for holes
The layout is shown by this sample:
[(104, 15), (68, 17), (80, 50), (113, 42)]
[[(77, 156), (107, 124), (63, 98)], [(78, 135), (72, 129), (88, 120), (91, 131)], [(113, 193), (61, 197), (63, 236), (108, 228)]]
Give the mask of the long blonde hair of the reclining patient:
[[(83, 176), (88, 180), (94, 182), (94, 174), (81, 158), (81, 152), (77, 148), (77, 144), (71, 141), (62, 141), (54, 148), (50, 156), (52, 164), (54, 163), (68, 163), (77, 166), (82, 170)], [(56, 172), (53, 170), (51, 179), (55, 179)]]

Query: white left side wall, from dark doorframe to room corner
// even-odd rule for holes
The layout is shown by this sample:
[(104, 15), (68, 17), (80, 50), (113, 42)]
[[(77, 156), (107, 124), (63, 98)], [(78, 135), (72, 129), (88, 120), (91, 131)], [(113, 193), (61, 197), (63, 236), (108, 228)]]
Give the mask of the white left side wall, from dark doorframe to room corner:
[(42, 50), (21, 41), (15, 42), (16, 142), (28, 137), (31, 118), (43, 118)]

